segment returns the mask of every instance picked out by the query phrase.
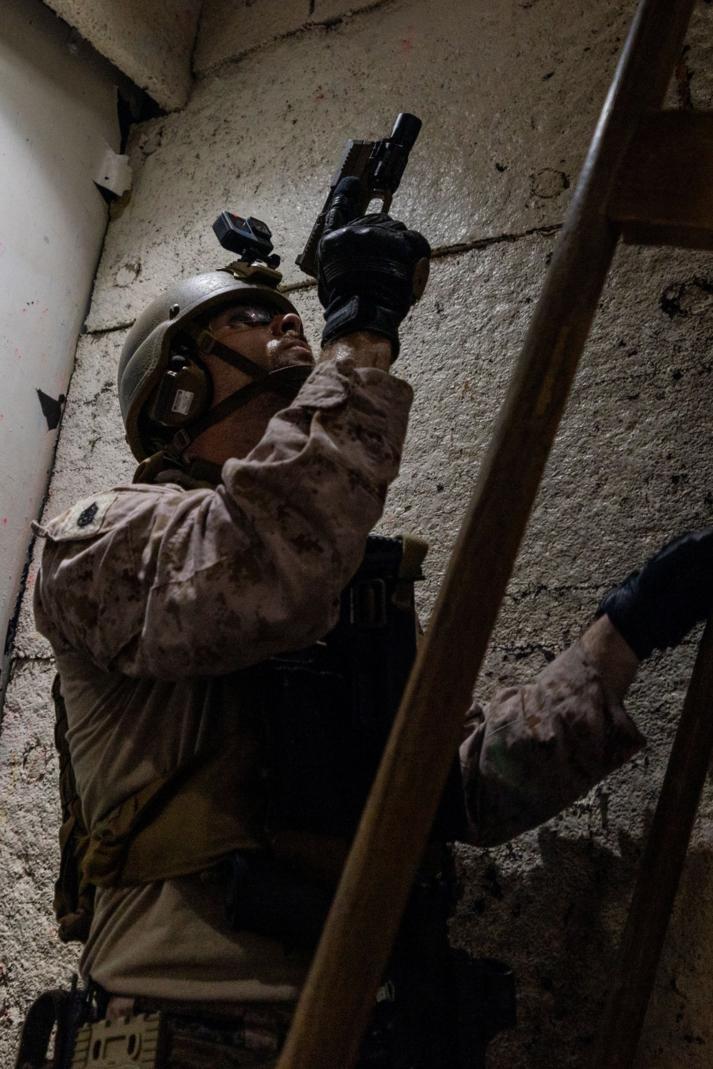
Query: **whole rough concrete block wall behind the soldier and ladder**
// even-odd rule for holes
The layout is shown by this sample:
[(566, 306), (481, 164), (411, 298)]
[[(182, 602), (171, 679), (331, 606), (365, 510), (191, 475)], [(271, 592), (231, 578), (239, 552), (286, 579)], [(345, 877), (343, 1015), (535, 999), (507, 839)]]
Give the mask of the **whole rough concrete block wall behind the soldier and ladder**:
[[(416, 402), (381, 526), (429, 539), (419, 592), (428, 619), (634, 4), (356, 7), (207, 0), (188, 104), (130, 137), (134, 189), (112, 208), (46, 514), (89, 487), (129, 478), (113, 398), (121, 342), (172, 278), (224, 262), (211, 231), (218, 212), (266, 219), (285, 283), (298, 285), (294, 257), (344, 141), (383, 135), (399, 110), (410, 110), (423, 133), (394, 212), (438, 255), (403, 334), (398, 370)], [(671, 107), (711, 106), (712, 21), (713, 9), (701, 5)], [(531, 679), (591, 621), (607, 587), (666, 539), (711, 523), (712, 293), (710, 253), (618, 252), (481, 673), (481, 699)], [(314, 288), (297, 289), (294, 299), (316, 340)], [(649, 739), (641, 755), (536, 832), (497, 850), (459, 848), (464, 893), (453, 942), (509, 961), (518, 980), (520, 1025), (493, 1043), (493, 1066), (590, 1064), (696, 640), (640, 672), (629, 708)], [(15, 652), (0, 735), (9, 800), (0, 885), (14, 903), (0, 951), (5, 1051), (33, 987), (65, 976), (74, 957), (51, 942), (51, 663), (29, 594)], [(707, 788), (641, 1069), (713, 1067), (712, 821)]]

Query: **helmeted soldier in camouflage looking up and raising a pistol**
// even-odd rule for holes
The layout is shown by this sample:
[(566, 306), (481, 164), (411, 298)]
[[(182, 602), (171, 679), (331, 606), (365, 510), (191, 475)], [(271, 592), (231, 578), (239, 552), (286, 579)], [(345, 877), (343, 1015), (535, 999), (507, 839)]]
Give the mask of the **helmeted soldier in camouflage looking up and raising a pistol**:
[[(413, 657), (379, 645), (377, 624), (394, 648), (404, 620), (413, 637), (422, 552), (367, 539), (399, 469), (412, 390), (390, 369), (429, 255), (385, 216), (325, 237), (316, 366), (279, 273), (238, 262), (172, 285), (120, 362), (134, 484), (37, 529), (64, 755), (61, 935), (86, 941), (102, 1013), (164, 1014), (174, 1069), (274, 1064), (384, 723), (323, 735), (344, 701), (392, 715), (399, 695), (384, 714), (379, 687), (401, 686)], [(622, 700), (639, 661), (706, 616), (710, 541), (675, 543), (534, 682), (474, 703), (467, 815), (456, 828), (454, 803), (441, 839), (501, 842), (640, 748)], [(371, 645), (347, 650), (359, 622)], [(362, 662), (342, 671), (345, 650)], [(376, 1022), (363, 1065), (454, 1064), (443, 1035), (419, 1033), (431, 995), (414, 997), (417, 1011)]]

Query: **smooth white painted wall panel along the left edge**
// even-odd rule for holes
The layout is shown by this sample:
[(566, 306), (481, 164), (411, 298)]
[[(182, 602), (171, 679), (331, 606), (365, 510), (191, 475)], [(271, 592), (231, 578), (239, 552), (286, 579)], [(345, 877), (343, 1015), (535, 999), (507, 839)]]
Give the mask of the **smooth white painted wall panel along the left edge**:
[(119, 145), (112, 68), (40, 0), (0, 18), (0, 653), (66, 393), (108, 210), (93, 182)]

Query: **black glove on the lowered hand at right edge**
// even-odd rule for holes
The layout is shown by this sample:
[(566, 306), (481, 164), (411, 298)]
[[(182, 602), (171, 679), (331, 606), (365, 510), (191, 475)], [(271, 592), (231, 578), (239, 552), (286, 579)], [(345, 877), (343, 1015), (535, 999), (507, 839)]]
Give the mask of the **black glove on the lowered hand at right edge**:
[(610, 590), (599, 607), (639, 661), (678, 646), (713, 610), (713, 527), (665, 545), (641, 572)]

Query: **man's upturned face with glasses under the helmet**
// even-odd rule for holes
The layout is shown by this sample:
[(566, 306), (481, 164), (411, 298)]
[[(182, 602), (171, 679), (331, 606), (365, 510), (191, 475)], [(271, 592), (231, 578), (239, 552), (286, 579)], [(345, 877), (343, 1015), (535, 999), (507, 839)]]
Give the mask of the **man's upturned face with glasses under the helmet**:
[(268, 371), (314, 363), (301, 321), (294, 312), (275, 312), (260, 304), (235, 305), (211, 320), (211, 334)]

